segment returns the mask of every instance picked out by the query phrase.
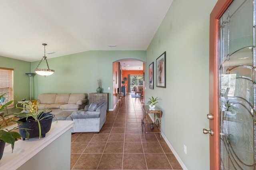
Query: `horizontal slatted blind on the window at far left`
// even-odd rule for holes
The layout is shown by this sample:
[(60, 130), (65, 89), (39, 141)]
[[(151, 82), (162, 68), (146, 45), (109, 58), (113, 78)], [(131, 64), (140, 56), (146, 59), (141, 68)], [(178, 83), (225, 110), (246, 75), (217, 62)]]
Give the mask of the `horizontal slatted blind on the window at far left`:
[[(4, 95), (4, 103), (13, 100), (13, 71), (14, 69), (0, 67), (0, 95)], [(14, 107), (14, 103), (9, 107)]]

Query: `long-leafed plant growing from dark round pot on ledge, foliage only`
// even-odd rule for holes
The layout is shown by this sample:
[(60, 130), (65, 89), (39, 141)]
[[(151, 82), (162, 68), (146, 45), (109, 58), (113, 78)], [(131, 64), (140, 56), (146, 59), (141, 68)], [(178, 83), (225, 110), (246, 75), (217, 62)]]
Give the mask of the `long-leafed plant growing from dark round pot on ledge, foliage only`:
[[(17, 109), (25, 109), (24, 113), (20, 113), (22, 115), (24, 115), (24, 117), (26, 117), (26, 120), (28, 120), (28, 117), (32, 117), (35, 121), (37, 121), (38, 123), (38, 130), (39, 130), (39, 138), (41, 138), (42, 135), (42, 130), (41, 130), (41, 125), (40, 125), (40, 120), (43, 119), (47, 119), (49, 117), (52, 117), (52, 115), (45, 115), (43, 116), (43, 113), (46, 113), (48, 109), (42, 109), (40, 111), (38, 111), (38, 109), (34, 109), (33, 105), (29, 105), (28, 103), (24, 103), (25, 108), (23, 107), (18, 107), (18, 103), (16, 104), (16, 108)], [(36, 107), (38, 108), (39, 103), (36, 103)], [(31, 129), (24, 129), (26, 130), (26, 137), (29, 139), (29, 132), (27, 130), (31, 130)]]

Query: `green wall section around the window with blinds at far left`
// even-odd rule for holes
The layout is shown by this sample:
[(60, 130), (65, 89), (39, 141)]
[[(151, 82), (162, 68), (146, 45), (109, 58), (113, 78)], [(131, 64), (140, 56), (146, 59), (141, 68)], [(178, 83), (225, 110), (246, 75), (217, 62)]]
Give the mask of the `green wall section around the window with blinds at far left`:
[[(30, 83), (26, 73), (30, 73), (30, 62), (0, 56), (0, 67), (14, 69), (14, 105), (24, 97), (29, 100)], [(15, 108), (8, 112), (17, 112)]]

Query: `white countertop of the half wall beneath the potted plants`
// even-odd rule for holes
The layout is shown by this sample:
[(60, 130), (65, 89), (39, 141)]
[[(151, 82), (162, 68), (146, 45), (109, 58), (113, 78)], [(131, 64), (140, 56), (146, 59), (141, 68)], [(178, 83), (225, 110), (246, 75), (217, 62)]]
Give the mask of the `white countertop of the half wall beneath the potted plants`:
[(36, 137), (30, 138), (29, 140), (16, 141), (13, 153), (12, 146), (8, 144), (8, 146), (4, 148), (4, 154), (0, 160), (0, 170), (12, 170), (19, 168), (72, 127), (73, 121), (53, 122), (50, 131), (46, 133), (44, 138), (41, 137), (39, 139)]

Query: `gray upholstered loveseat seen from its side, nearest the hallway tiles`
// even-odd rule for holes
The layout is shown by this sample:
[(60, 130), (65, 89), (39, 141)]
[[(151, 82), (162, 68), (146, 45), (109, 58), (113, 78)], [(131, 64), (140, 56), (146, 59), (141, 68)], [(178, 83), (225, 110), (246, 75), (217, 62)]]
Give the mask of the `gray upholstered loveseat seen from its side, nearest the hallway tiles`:
[[(100, 132), (106, 122), (107, 102), (98, 100), (79, 111), (64, 111), (56, 114), (58, 120), (73, 121), (72, 133), (76, 132)], [(55, 121), (53, 119), (53, 121)]]

